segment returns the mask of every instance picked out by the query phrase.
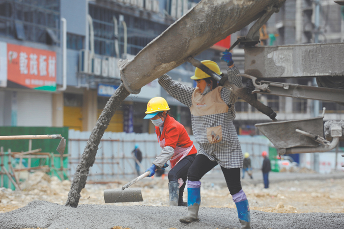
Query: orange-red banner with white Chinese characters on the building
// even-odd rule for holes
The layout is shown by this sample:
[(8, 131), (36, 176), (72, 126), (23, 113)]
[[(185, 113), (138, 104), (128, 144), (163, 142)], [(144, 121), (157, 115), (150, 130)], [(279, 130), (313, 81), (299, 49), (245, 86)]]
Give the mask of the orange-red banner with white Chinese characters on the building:
[(56, 52), (7, 44), (7, 86), (56, 91)]

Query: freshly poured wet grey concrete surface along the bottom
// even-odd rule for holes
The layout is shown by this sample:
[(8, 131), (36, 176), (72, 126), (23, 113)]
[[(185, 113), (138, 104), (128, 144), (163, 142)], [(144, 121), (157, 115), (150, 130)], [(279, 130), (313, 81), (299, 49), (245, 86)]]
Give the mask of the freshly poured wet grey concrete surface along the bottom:
[[(200, 222), (188, 225), (179, 222), (186, 207), (79, 205), (65, 207), (45, 201), (33, 201), (14, 211), (0, 213), (1, 229), (231, 229), (239, 227), (234, 208), (200, 209)], [(342, 229), (344, 214), (283, 214), (251, 211), (253, 229)]]

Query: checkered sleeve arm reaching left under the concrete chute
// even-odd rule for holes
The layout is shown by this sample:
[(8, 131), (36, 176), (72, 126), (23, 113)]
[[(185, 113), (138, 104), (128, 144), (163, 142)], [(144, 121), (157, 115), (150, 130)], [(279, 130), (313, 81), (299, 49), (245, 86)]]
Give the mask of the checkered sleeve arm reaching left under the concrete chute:
[(172, 80), (171, 76), (164, 74), (158, 80), (159, 84), (169, 93), (174, 99), (183, 103), (187, 107), (192, 106), (192, 93), (195, 88), (188, 87), (184, 84)]

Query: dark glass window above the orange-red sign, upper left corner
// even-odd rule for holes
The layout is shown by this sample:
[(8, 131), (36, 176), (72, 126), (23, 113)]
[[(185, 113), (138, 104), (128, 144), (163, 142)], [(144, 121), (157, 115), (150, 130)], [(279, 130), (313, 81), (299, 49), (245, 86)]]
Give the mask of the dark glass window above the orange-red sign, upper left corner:
[(59, 45), (59, 8), (60, 0), (0, 0), (0, 34)]

